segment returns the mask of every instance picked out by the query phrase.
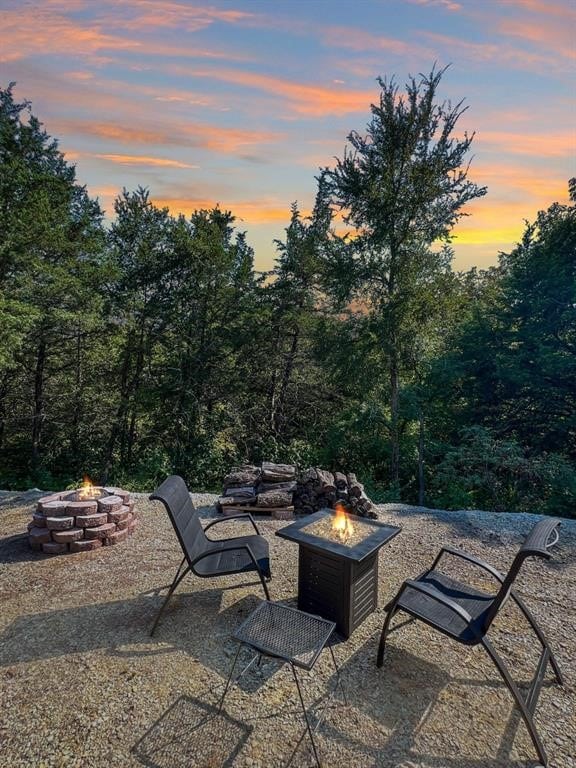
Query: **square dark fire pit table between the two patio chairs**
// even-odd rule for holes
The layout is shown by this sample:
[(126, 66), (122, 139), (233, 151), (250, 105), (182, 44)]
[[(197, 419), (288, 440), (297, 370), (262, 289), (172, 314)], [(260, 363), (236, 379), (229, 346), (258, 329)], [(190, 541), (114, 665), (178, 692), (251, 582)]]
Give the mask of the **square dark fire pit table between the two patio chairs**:
[(299, 545), (298, 608), (335, 621), (344, 637), (376, 609), (378, 550), (402, 530), (356, 515), (347, 518), (354, 527), (347, 541), (332, 531), (331, 509), (276, 531), (276, 536)]

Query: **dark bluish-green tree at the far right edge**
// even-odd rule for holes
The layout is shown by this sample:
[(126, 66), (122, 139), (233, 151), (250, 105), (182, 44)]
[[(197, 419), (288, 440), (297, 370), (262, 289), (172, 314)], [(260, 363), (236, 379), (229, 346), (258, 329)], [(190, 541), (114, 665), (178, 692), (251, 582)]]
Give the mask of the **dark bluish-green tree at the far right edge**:
[[(576, 201), (554, 203), (484, 275), (476, 311), (453, 340), (444, 398), (531, 455), (576, 458)], [(446, 382), (448, 385), (448, 382)]]

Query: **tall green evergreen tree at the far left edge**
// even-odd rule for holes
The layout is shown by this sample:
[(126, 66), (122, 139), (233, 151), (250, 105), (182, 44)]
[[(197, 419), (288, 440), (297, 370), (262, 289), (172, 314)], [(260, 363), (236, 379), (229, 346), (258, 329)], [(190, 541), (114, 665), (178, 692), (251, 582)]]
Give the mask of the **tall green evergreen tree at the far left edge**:
[[(102, 275), (104, 239), (98, 203), (76, 183), (75, 168), (32, 115), (30, 104), (16, 102), (12, 91), (13, 84), (0, 89), (0, 313), (8, 329), (0, 334), (0, 344), (6, 339), (9, 347), (8, 354), (0, 351), (8, 365), (0, 414), (9, 396), (13, 419), (28, 416), (32, 402), (22, 442), (37, 472), (47, 409), (61, 408), (61, 387), (79, 376), (81, 361), (72, 357), (73, 350), (97, 332), (95, 286)], [(61, 444), (75, 439), (77, 414), (77, 409), (60, 414)]]

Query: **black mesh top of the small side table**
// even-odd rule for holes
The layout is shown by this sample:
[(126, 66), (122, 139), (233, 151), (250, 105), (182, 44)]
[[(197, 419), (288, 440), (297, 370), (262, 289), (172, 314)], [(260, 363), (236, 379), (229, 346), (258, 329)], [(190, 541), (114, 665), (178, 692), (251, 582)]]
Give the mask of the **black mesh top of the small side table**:
[(261, 603), (238, 627), (234, 638), (259, 653), (312, 669), (335, 622), (277, 603)]

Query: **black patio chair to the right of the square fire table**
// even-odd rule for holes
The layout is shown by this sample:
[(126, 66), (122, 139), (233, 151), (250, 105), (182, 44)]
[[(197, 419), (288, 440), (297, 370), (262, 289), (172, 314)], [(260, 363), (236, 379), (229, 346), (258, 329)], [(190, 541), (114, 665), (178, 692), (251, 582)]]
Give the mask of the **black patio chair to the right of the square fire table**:
[[(384, 660), (384, 648), (390, 622), (398, 611), (404, 611), (412, 619), (424, 621), (429, 626), (464, 645), (481, 644), (496, 665), (498, 672), (514, 697), (538, 757), (544, 766), (547, 765), (546, 752), (536, 731), (533, 715), (536, 710), (548, 661), (552, 664), (559, 685), (563, 684), (563, 680), (556, 659), (542, 630), (524, 605), (524, 602), (512, 590), (512, 584), (527, 557), (550, 558), (548, 550), (558, 541), (559, 525), (560, 521), (554, 518), (547, 518), (537, 523), (518, 550), (506, 576), (502, 576), (491, 565), (473, 555), (453, 549), (452, 547), (443, 547), (432, 563), (432, 567), (416, 579), (405, 581), (396, 597), (384, 608), (388, 615), (382, 628), (376, 660), (377, 666), (381, 667)], [(468, 584), (456, 581), (440, 570), (437, 570), (437, 566), (445, 554), (461, 558), (471, 565), (478, 566), (487, 571), (500, 583), (500, 588), (495, 594), (488, 594), (474, 589), (468, 586)], [(536, 674), (525, 697), (518, 690), (504, 661), (496, 653), (492, 643), (486, 637), (490, 625), (508, 597), (511, 597), (518, 608), (520, 608), (542, 646)]]

